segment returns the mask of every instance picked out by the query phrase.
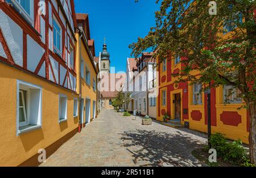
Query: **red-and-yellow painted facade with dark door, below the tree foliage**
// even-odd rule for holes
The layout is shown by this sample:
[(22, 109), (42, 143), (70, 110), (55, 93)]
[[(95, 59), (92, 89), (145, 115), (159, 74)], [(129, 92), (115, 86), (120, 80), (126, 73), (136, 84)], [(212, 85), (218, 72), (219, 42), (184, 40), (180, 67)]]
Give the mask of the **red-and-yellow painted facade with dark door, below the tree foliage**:
[[(228, 37), (226, 33), (223, 37)], [(168, 56), (166, 60), (158, 62), (159, 98), (157, 100), (157, 119), (164, 121), (163, 116), (170, 116), (169, 125), (185, 126), (187, 128), (207, 133), (208, 104), (207, 94), (200, 92), (201, 84), (188, 82), (175, 83), (185, 58)], [(192, 75), (199, 74), (194, 71)], [(213, 133), (223, 133), (230, 139), (241, 139), (249, 143), (249, 115), (245, 108), (241, 108), (242, 99), (237, 96), (239, 91), (233, 91), (232, 86), (221, 86), (210, 90), (210, 117)], [(227, 102), (228, 101), (228, 102)], [(241, 108), (241, 109), (238, 109)]]

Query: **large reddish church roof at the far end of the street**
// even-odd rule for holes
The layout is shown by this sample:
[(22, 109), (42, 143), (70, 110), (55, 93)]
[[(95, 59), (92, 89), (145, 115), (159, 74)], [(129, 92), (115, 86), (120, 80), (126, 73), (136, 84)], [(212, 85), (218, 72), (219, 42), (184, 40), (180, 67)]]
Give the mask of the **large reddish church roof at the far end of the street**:
[(119, 91), (122, 91), (126, 82), (126, 74), (108, 74), (103, 73), (100, 80), (102, 88), (100, 88), (103, 98), (116, 98)]

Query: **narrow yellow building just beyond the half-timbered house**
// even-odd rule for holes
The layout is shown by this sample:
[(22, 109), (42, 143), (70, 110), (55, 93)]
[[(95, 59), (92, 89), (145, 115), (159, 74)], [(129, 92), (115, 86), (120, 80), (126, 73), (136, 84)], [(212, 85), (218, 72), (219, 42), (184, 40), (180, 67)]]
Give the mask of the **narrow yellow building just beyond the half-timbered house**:
[(76, 68), (79, 69), (79, 83), (77, 92), (80, 95), (79, 115), (80, 128), (85, 127), (94, 118), (97, 111), (97, 74), (98, 69), (94, 61), (94, 41), (90, 39), (88, 14), (76, 14), (77, 16), (77, 45)]

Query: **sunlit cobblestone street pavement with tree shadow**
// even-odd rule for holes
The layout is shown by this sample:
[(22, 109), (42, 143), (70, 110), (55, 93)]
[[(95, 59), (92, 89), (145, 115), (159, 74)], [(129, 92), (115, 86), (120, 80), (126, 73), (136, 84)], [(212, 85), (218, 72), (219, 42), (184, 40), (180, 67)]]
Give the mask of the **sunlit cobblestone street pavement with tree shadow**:
[(41, 166), (205, 166), (191, 155), (205, 134), (133, 119), (102, 111)]

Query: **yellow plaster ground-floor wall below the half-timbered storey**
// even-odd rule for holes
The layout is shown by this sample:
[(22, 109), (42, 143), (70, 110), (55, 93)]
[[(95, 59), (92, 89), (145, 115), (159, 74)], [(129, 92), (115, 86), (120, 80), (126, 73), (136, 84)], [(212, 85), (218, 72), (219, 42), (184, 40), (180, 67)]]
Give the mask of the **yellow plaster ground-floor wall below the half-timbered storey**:
[[(0, 166), (18, 166), (78, 126), (73, 98), (78, 96), (53, 83), (0, 63)], [(16, 136), (16, 80), (42, 87), (42, 129)], [(59, 124), (59, 94), (68, 97), (68, 120)]]

